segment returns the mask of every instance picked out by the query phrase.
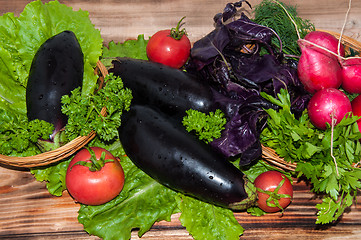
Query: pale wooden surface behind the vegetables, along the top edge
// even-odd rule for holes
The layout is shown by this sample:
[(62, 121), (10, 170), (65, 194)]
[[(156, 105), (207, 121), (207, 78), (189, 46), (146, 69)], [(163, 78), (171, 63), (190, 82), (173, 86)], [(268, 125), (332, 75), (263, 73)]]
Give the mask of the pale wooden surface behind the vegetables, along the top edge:
[[(249, 0), (256, 5), (261, 0)], [(15, 12), (18, 15), (30, 1), (3, 1), (0, 14)], [(48, 2), (48, 1), (44, 1)], [(174, 27), (186, 16), (185, 27), (191, 42), (203, 37), (213, 29), (213, 16), (221, 12), (228, 0), (60, 0), (74, 10), (89, 12), (95, 27), (102, 33), (104, 41), (123, 42), (136, 38), (138, 34), (150, 37), (160, 29)], [(296, 6), (301, 17), (311, 20), (317, 28), (340, 32), (344, 23), (349, 0), (284, 0)], [(250, 14), (248, 6), (245, 6)], [(361, 40), (361, 1), (352, 1), (352, 8), (347, 19), (345, 35)]]

